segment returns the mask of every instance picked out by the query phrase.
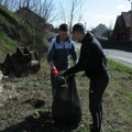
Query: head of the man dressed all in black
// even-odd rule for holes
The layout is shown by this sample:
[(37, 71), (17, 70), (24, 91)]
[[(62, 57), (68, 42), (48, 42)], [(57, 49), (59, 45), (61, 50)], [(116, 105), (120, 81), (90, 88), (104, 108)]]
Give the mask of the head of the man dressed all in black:
[(77, 23), (73, 26), (73, 36), (77, 42), (81, 42), (85, 36), (85, 28), (81, 23)]

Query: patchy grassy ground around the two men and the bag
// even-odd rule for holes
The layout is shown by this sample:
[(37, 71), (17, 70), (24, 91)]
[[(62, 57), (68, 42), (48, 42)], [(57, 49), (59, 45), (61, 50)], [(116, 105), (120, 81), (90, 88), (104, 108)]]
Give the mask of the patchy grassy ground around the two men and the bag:
[[(110, 84), (103, 97), (105, 132), (132, 131), (132, 75), (109, 68)], [(0, 132), (89, 132), (91, 117), (88, 109), (89, 80), (82, 73), (76, 76), (82, 119), (75, 129), (58, 128), (52, 114), (52, 94), (46, 63), (35, 75), (9, 78), (1, 81), (2, 95), (7, 97), (0, 106)]]

